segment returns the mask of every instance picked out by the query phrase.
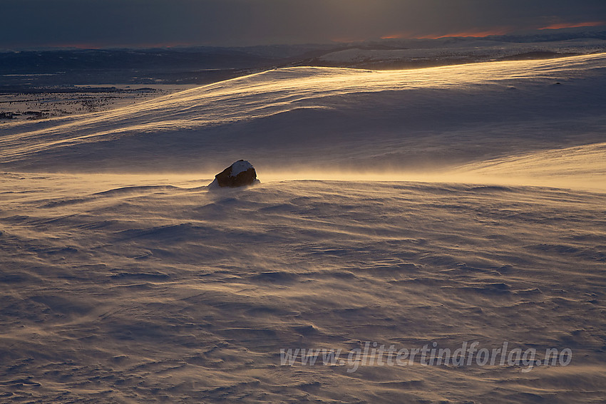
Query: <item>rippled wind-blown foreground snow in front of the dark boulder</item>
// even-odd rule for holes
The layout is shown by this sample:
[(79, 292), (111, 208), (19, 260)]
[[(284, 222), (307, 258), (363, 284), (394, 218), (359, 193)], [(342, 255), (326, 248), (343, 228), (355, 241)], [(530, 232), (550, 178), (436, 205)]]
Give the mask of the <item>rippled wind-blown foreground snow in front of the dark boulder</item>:
[[(590, 403), (606, 395), (603, 194), (412, 182), (0, 177), (8, 402)], [(133, 186), (133, 184), (137, 186)], [(433, 342), (568, 366), (282, 366)], [(345, 356), (345, 355), (344, 355)]]

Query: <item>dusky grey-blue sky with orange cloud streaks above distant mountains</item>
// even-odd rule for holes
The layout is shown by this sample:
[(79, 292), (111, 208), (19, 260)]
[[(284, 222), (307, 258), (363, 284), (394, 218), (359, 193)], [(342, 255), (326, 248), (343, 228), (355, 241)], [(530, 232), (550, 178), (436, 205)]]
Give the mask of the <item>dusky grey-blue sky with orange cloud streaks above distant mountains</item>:
[(252, 46), (606, 24), (606, 0), (0, 0), (0, 48)]

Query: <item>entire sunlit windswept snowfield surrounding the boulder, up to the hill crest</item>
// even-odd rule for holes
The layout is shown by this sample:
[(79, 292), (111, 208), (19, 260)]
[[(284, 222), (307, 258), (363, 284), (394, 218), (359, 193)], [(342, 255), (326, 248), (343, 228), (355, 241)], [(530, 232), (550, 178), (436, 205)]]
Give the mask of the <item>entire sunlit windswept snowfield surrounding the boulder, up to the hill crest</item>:
[(603, 403), (605, 88), (605, 53), (284, 68), (0, 124), (0, 400)]

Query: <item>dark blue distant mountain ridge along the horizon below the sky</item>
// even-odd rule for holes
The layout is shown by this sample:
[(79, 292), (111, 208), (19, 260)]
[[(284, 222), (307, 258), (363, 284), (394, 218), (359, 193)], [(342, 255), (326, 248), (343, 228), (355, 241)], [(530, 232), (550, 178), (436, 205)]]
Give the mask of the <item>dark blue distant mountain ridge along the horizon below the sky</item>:
[[(385, 39), (234, 48), (47, 48), (0, 51), (0, 88), (117, 83), (202, 85), (276, 67), (415, 68), (516, 55), (545, 58), (600, 51), (606, 51), (606, 31), (590, 29), (486, 38)], [(343, 53), (352, 52), (361, 56), (341, 58)]]

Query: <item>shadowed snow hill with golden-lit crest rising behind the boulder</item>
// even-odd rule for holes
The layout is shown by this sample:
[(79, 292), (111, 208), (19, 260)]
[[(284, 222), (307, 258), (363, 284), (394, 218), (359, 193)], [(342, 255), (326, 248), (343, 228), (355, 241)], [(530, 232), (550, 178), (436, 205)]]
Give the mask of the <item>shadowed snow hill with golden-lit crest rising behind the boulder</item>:
[(428, 170), (604, 141), (606, 54), (409, 71), (281, 68), (0, 124), (6, 170)]

